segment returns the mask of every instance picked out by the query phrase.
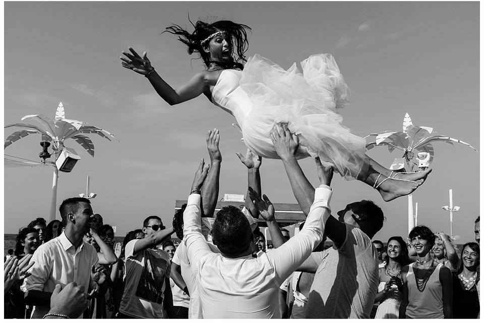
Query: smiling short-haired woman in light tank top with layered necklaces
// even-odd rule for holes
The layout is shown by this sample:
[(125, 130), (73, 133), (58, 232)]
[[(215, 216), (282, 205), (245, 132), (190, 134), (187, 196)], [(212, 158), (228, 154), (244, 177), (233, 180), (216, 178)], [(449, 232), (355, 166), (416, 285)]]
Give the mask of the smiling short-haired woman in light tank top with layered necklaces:
[(402, 270), (400, 318), (452, 318), (452, 275), (430, 256), (435, 234), (416, 226), (408, 234), (417, 259)]

